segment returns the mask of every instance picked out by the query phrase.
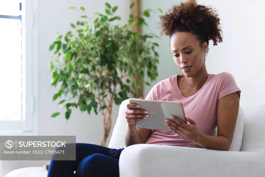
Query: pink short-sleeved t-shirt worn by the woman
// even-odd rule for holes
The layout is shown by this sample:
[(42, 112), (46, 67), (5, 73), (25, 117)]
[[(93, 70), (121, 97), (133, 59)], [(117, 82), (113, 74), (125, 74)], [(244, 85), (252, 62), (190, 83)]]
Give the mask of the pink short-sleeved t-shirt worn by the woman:
[[(188, 98), (184, 97), (178, 88), (177, 79), (181, 79), (181, 77), (183, 76), (175, 75), (160, 81), (150, 90), (145, 99), (182, 102), (185, 115), (195, 121), (198, 130), (204, 134), (212, 135), (217, 127), (218, 99), (236, 91), (241, 92), (234, 77), (227, 72), (209, 74), (202, 88)], [(231, 100), (227, 100), (227, 102), (229, 104)], [(196, 142), (198, 140), (195, 140), (194, 143), (183, 140), (172, 131), (153, 130), (145, 144), (202, 148)]]

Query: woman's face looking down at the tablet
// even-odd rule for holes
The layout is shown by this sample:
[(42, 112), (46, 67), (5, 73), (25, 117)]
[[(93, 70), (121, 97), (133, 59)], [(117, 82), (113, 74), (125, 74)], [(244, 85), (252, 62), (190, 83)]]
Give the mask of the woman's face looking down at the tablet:
[(203, 45), (191, 33), (177, 32), (170, 40), (175, 64), (186, 77), (196, 75), (202, 66), (205, 67), (204, 56), (207, 43)]

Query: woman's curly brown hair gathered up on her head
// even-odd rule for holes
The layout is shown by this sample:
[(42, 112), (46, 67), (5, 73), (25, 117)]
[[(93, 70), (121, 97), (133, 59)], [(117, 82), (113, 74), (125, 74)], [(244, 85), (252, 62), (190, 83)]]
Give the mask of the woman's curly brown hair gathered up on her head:
[(213, 45), (223, 41), (220, 18), (211, 7), (181, 2), (160, 16), (160, 20), (161, 35), (165, 33), (171, 38), (176, 32), (191, 32), (201, 43), (207, 42), (208, 45), (209, 40), (213, 41)]

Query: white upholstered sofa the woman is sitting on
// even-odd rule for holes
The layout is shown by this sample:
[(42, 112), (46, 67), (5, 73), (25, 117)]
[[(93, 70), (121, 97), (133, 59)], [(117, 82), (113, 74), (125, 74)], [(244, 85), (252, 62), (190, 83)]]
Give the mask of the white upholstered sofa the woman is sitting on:
[[(120, 106), (109, 148), (118, 149), (125, 145), (124, 111), (127, 103), (128, 101), (125, 100)], [(233, 147), (231, 146), (229, 151), (148, 144), (132, 145), (121, 153), (120, 177), (265, 176), (265, 104), (251, 103), (240, 107), (244, 110), (242, 112), (240, 109), (239, 113), (239, 116), (244, 115), (242, 119), (244, 126), (241, 125), (242, 121), (237, 121)], [(236, 151), (238, 145), (240, 151)], [(1, 177), (47, 176), (47, 170), (42, 166), (48, 161), (0, 163)]]

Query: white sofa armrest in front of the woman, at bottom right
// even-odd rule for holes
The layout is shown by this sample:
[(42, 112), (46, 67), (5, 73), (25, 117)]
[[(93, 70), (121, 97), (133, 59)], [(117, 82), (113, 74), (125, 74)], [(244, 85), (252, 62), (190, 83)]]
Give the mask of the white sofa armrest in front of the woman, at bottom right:
[(265, 153), (137, 144), (120, 156), (120, 177), (263, 176)]

